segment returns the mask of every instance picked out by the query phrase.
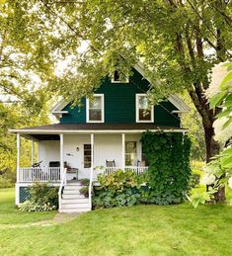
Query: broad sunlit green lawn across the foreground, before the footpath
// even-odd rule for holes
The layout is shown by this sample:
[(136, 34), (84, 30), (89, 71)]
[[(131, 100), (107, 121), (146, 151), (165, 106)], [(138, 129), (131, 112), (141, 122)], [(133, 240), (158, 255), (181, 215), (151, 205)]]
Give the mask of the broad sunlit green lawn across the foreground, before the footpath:
[[(10, 205), (7, 210), (7, 204), (13, 207), (13, 198), (8, 203), (1, 200), (0, 219), (12, 213), (22, 222), (26, 213), (13, 211)], [(39, 219), (27, 214), (31, 221)], [(0, 255), (232, 255), (232, 207), (115, 208), (51, 226), (0, 225), (0, 233)]]

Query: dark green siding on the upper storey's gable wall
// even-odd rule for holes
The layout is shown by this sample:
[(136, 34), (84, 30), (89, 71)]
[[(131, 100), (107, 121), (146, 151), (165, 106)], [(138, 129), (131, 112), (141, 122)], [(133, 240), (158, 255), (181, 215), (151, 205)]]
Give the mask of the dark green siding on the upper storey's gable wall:
[[(105, 123), (108, 124), (128, 124), (135, 123), (135, 95), (146, 93), (149, 89), (149, 82), (143, 79), (142, 75), (133, 70), (133, 75), (129, 83), (111, 83), (107, 78), (95, 93), (105, 95)], [(176, 108), (170, 102), (163, 102), (162, 106), (156, 106), (154, 111), (155, 125), (179, 127), (178, 117), (170, 114)], [(73, 124), (86, 123), (86, 100), (82, 99), (82, 107), (67, 105), (64, 111), (69, 114), (63, 115), (60, 123)]]

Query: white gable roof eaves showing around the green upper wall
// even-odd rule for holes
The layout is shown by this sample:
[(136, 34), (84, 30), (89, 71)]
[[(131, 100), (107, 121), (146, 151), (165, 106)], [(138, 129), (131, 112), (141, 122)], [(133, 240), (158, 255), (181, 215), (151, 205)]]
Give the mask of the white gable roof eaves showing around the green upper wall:
[[(148, 82), (151, 83), (149, 78), (146, 76), (144, 72), (144, 68), (141, 62), (138, 62), (134, 65), (134, 69), (137, 70)], [(168, 101), (170, 101), (178, 110), (175, 111), (175, 113), (187, 113), (190, 112), (190, 107), (177, 95), (171, 95), (168, 98)], [(58, 101), (52, 108), (51, 113), (55, 117), (60, 117), (62, 114), (66, 114), (65, 111), (62, 111), (65, 106), (69, 104), (69, 101), (67, 100), (60, 100)]]

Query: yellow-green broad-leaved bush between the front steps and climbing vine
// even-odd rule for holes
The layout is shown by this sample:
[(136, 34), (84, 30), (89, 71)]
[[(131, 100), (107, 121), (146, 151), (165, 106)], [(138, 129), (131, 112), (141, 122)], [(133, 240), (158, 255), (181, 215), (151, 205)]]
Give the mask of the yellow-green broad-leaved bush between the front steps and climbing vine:
[(116, 172), (99, 175), (100, 187), (95, 187), (93, 207), (113, 208), (123, 206), (134, 206), (139, 204), (141, 198), (142, 177), (136, 176), (133, 171)]

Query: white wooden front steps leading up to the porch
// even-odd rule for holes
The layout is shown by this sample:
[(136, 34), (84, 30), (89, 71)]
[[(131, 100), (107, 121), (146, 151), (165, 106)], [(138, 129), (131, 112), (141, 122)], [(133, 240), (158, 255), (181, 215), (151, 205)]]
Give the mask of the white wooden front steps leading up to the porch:
[(89, 199), (80, 194), (83, 186), (79, 182), (70, 182), (64, 186), (59, 213), (85, 213), (91, 211)]

